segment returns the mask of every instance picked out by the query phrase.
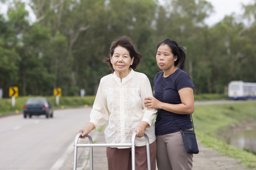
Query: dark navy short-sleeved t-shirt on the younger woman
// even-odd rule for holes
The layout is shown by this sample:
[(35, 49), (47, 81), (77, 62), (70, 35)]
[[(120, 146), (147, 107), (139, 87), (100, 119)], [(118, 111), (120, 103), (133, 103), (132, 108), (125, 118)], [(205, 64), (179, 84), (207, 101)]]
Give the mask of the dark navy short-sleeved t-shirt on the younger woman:
[[(185, 71), (177, 69), (166, 78), (163, 76), (163, 71), (160, 71), (154, 78), (154, 97), (164, 103), (180, 104), (178, 91), (185, 87), (194, 88), (191, 78)], [(190, 114), (176, 114), (158, 109), (155, 122), (156, 135), (175, 133), (180, 131), (179, 128), (193, 128)]]

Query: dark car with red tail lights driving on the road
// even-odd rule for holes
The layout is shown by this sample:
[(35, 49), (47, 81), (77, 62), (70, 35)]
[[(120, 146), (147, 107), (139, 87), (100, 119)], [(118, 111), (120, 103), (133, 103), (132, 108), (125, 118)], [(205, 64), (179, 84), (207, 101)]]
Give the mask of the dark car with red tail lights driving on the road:
[(27, 115), (30, 118), (32, 115), (46, 115), (46, 118), (48, 118), (53, 117), (53, 109), (46, 98), (30, 98), (24, 105), (23, 114), (24, 118), (27, 118)]

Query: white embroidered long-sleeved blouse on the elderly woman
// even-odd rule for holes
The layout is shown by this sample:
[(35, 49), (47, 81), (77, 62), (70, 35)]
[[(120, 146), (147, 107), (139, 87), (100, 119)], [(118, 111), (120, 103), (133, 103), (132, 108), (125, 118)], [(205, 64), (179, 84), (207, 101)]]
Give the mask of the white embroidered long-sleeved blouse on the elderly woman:
[[(150, 143), (155, 141), (153, 121), (157, 109), (145, 108), (144, 97), (152, 97), (152, 89), (143, 73), (131, 70), (122, 82), (115, 72), (101, 78), (90, 122), (96, 129), (108, 122), (105, 129), (106, 143), (131, 143), (133, 130), (141, 121), (150, 125), (145, 130)], [(144, 137), (136, 138), (135, 143), (136, 146), (146, 145)]]

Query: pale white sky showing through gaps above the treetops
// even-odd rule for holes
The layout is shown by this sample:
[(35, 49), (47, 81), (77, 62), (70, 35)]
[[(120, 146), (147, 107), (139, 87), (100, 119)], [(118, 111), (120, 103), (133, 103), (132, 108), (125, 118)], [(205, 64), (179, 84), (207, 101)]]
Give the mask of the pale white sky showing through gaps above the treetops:
[[(26, 0), (23, 0), (26, 2)], [(242, 3), (248, 5), (253, 3), (254, 0), (207, 0), (212, 3), (214, 11), (209, 18), (205, 19), (205, 23), (208, 25), (214, 25), (224, 19), (225, 15), (231, 15), (233, 12), (236, 15), (243, 14)], [(31, 11), (29, 7), (26, 7), (28, 11)], [(7, 7), (0, 2), (0, 13), (6, 14)], [(30, 12), (31, 13), (31, 12)], [(36, 18), (30, 14), (30, 21), (34, 21)]]

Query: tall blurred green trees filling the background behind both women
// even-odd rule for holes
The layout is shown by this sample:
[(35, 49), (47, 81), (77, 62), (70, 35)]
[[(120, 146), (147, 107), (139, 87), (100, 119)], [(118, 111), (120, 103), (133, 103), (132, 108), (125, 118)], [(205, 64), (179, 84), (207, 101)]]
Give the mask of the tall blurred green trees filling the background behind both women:
[(110, 44), (127, 35), (142, 53), (137, 71), (151, 83), (160, 71), (156, 45), (172, 39), (184, 46), (184, 71), (195, 84), (195, 94), (223, 93), (231, 80), (256, 82), (256, 0), (243, 5), (243, 15), (225, 16), (207, 25), (213, 6), (204, 0), (30, 0), (36, 16), (19, 0), (0, 15), (0, 88), (19, 95), (95, 95), (102, 76), (111, 73), (106, 63)]

